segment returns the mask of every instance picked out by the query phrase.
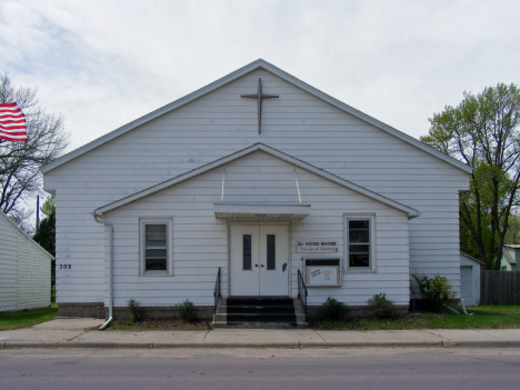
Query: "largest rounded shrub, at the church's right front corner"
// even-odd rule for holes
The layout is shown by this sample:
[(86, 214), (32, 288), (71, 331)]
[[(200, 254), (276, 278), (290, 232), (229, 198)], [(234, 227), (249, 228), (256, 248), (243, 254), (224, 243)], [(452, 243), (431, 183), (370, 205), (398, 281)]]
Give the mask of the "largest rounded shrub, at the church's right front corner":
[(457, 296), (448, 279), (440, 274), (429, 278), (424, 274), (413, 273), (411, 282), (412, 294), (423, 300), (428, 311), (443, 311), (446, 306), (449, 306)]

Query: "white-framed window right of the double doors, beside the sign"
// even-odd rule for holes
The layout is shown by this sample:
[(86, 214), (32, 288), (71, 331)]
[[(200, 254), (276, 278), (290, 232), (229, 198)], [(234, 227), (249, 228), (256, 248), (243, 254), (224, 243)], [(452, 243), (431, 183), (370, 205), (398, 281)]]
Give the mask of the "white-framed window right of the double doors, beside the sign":
[(346, 258), (349, 270), (373, 271), (373, 217), (346, 217)]

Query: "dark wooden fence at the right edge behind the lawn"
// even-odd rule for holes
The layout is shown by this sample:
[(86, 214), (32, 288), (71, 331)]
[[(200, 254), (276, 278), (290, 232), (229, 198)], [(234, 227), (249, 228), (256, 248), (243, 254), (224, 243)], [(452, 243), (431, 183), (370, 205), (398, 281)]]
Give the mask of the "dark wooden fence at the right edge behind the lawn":
[(480, 304), (520, 304), (520, 271), (480, 271)]

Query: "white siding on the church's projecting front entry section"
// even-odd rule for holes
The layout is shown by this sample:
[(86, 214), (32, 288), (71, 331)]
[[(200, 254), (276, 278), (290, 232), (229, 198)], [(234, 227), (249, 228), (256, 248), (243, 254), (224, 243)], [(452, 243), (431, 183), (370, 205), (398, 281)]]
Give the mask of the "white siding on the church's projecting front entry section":
[[(190, 299), (196, 304), (212, 304), (217, 271), (222, 269), (222, 294), (229, 292), (228, 221), (214, 217), (220, 201), (222, 170), (226, 169), (226, 202), (298, 202), (293, 167), (257, 151), (221, 168), (164, 189), (107, 213), (114, 228), (114, 306), (130, 298), (143, 306), (171, 306)], [(276, 173), (274, 173), (276, 172)], [(290, 293), (298, 294), (297, 274), (302, 269), (299, 240), (338, 240), (343, 250), (343, 212), (372, 210), (378, 218), (374, 234), (378, 270), (373, 273), (342, 273), (343, 288), (309, 289), (309, 303), (321, 303), (334, 296), (349, 304), (366, 304), (374, 293), (386, 292), (398, 304), (407, 304), (408, 218), (401, 211), (331, 183), (313, 173), (298, 170), (300, 192), (311, 213), (291, 222)], [(190, 199), (190, 201), (187, 200)], [(173, 277), (139, 277), (139, 218), (143, 213), (160, 218), (164, 210), (173, 216)]]

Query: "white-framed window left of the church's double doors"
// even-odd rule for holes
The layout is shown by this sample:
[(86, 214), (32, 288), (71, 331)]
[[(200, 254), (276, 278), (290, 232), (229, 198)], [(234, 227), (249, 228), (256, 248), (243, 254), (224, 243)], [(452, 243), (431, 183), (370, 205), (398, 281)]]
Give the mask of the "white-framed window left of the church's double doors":
[(171, 221), (141, 221), (141, 273), (171, 274)]

